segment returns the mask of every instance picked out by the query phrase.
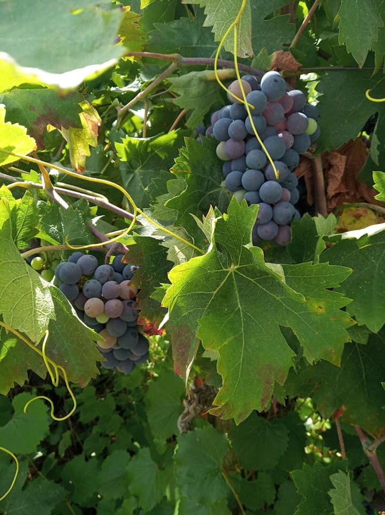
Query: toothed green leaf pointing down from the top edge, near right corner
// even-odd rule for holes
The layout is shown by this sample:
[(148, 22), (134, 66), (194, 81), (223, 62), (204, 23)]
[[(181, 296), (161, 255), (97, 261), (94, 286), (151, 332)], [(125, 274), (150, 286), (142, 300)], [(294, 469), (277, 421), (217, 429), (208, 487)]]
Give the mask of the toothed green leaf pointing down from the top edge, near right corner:
[[(378, 41), (378, 29), (384, 26), (373, 0), (342, 0), (339, 11), (339, 43), (363, 66), (369, 50)], [(365, 30), (362, 30), (362, 24)]]

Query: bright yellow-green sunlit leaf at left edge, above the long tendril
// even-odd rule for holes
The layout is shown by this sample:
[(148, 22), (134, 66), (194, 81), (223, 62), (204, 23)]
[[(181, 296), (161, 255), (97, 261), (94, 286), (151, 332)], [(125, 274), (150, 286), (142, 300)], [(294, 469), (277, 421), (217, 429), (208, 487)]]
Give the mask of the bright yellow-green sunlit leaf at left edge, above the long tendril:
[(0, 105), (0, 165), (13, 163), (18, 161), (19, 158), (9, 156), (1, 149), (8, 152), (16, 152), (27, 155), (36, 148), (36, 142), (33, 138), (28, 136), (27, 129), (22, 125), (11, 124), (5, 122), (6, 110), (4, 105)]

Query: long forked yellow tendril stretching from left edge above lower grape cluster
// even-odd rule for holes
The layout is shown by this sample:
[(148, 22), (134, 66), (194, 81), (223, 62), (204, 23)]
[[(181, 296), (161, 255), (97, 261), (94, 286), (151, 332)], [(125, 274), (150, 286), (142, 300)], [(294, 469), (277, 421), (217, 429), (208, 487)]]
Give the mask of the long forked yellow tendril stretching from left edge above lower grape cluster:
[[(147, 221), (149, 221), (150, 224), (155, 226), (160, 231), (165, 232), (166, 234), (169, 234), (170, 236), (173, 236), (174, 238), (178, 239), (180, 242), (184, 243), (185, 245), (187, 245), (189, 247), (192, 247), (193, 249), (195, 249), (196, 251), (200, 252), (201, 254), (205, 254), (206, 253), (204, 250), (200, 249), (199, 247), (196, 247), (193, 243), (187, 241), (187, 239), (182, 238), (181, 236), (179, 236), (178, 234), (175, 234), (174, 232), (170, 231), (166, 227), (161, 226), (155, 220), (150, 218), (150, 216), (146, 215), (144, 213), (144, 211), (142, 211), (141, 209), (139, 209), (137, 207), (136, 203), (134, 202), (134, 199), (131, 197), (131, 195), (129, 193), (127, 193), (125, 191), (125, 189), (122, 186), (120, 186), (120, 184), (115, 184), (115, 182), (107, 181), (106, 179), (97, 179), (96, 177), (87, 177), (87, 176), (84, 176), (84, 175), (80, 175), (80, 174), (77, 174), (75, 171), (71, 171), (71, 170), (67, 170), (66, 168), (63, 168), (62, 166), (58, 166), (58, 165), (53, 164), (53, 163), (52, 164), (51, 163), (46, 163), (45, 161), (41, 161), (40, 159), (31, 158), (30, 156), (24, 156), (23, 154), (19, 154), (17, 152), (10, 152), (9, 150), (5, 150), (3, 148), (0, 149), (0, 150), (1, 150), (1, 152), (4, 152), (5, 154), (7, 154), (9, 156), (15, 156), (15, 157), (17, 157), (19, 159), (24, 159), (25, 161), (29, 161), (31, 163), (35, 163), (35, 164), (38, 164), (38, 165), (49, 166), (50, 168), (53, 168), (53, 169), (58, 170), (58, 171), (61, 171), (63, 174), (69, 175), (71, 177), (76, 177), (77, 179), (82, 179), (83, 181), (97, 182), (98, 184), (105, 184), (107, 186), (111, 186), (111, 187), (115, 188), (116, 190), (119, 190), (126, 197), (126, 199), (129, 200), (130, 204), (133, 207), (134, 219), (132, 220), (132, 222), (130, 224), (129, 230), (131, 230), (131, 228), (134, 226), (137, 215), (140, 214), (143, 218), (145, 218)], [(125, 231), (123, 234), (121, 234), (120, 236), (117, 236), (114, 239), (110, 239), (108, 243), (113, 243), (115, 241), (118, 241), (129, 230)], [(67, 243), (67, 238), (66, 238), (66, 243)], [(68, 243), (67, 243), (67, 245), (71, 249), (79, 249), (79, 248), (83, 248), (84, 249), (84, 248), (89, 248), (89, 247), (99, 247), (99, 246), (102, 247), (102, 246), (105, 245), (105, 243), (106, 242), (103, 242), (103, 243), (100, 243), (100, 244), (93, 243), (91, 245), (86, 245), (84, 247), (82, 247), (82, 246), (70, 246)]]

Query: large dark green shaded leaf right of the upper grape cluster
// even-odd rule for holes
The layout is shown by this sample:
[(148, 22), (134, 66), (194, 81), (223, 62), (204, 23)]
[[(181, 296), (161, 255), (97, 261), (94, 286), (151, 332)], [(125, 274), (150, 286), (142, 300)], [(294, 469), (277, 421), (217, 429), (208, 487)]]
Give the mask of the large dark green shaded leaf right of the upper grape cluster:
[[(350, 84), (346, 88), (346, 84)], [(385, 88), (366, 71), (335, 71), (320, 77), (317, 91), (322, 93), (319, 108), (321, 136), (317, 151), (333, 150), (354, 139), (375, 112), (384, 113), (384, 106), (371, 102), (365, 91), (374, 89), (372, 95), (385, 96)]]

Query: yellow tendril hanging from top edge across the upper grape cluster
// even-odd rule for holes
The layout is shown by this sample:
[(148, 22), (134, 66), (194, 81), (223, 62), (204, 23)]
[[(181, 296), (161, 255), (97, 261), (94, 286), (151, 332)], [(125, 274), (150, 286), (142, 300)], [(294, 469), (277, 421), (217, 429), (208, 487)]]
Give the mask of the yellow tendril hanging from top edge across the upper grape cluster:
[[(256, 127), (254, 125), (254, 122), (253, 122), (253, 119), (252, 119), (252, 115), (251, 115), (251, 110), (250, 110), (250, 108), (254, 109), (254, 106), (252, 106), (251, 104), (249, 104), (247, 102), (246, 93), (245, 93), (245, 89), (243, 87), (243, 83), (242, 83), (242, 79), (241, 79), (241, 74), (240, 74), (239, 66), (238, 66), (238, 24), (239, 24), (239, 22), (241, 20), (241, 16), (242, 16), (242, 14), (243, 14), (243, 12), (245, 10), (246, 4), (247, 4), (247, 0), (243, 0), (241, 8), (240, 8), (238, 14), (236, 15), (236, 18), (235, 18), (234, 22), (226, 30), (225, 35), (223, 36), (221, 42), (219, 43), (219, 46), (218, 46), (218, 48), (216, 50), (215, 59), (214, 59), (214, 74), (215, 74), (215, 78), (216, 78), (216, 81), (218, 82), (218, 84), (228, 94), (230, 94), (234, 99), (238, 100), (241, 104), (244, 104), (245, 109), (247, 111), (247, 115), (249, 117), (250, 125), (252, 127), (253, 132), (254, 132), (254, 135), (255, 135), (256, 139), (258, 140), (258, 142), (260, 143), (262, 149), (266, 153), (266, 156), (267, 156), (268, 160), (270, 161), (270, 164), (271, 164), (271, 166), (272, 166), (272, 168), (274, 170), (274, 175), (278, 179), (279, 172), (277, 170), (277, 167), (274, 164), (274, 161), (272, 160), (272, 158), (271, 158), (267, 148), (265, 147), (263, 141), (261, 140), (261, 137), (258, 134), (258, 131), (256, 130)], [(221, 79), (219, 78), (219, 75), (218, 75), (217, 65), (218, 65), (219, 53), (221, 52), (221, 49), (222, 49), (223, 45), (225, 44), (225, 41), (226, 41), (227, 37), (229, 36), (229, 34), (230, 34), (232, 29), (234, 29), (234, 52), (233, 52), (233, 54), (234, 54), (234, 67), (235, 67), (236, 78), (238, 80), (238, 83), (239, 83), (239, 86), (240, 86), (240, 90), (241, 90), (241, 93), (242, 93), (242, 98), (237, 97), (230, 90), (228, 90), (226, 88), (225, 84), (221, 81)]]

